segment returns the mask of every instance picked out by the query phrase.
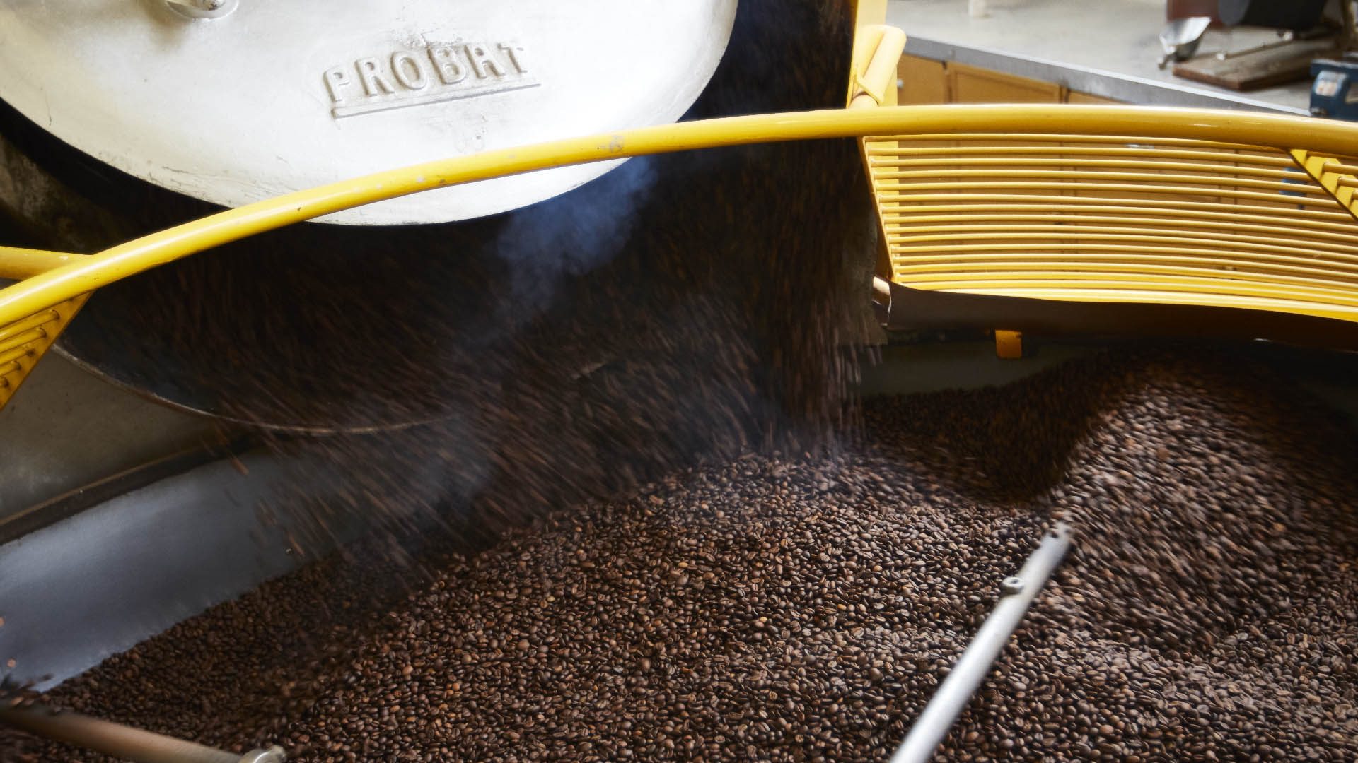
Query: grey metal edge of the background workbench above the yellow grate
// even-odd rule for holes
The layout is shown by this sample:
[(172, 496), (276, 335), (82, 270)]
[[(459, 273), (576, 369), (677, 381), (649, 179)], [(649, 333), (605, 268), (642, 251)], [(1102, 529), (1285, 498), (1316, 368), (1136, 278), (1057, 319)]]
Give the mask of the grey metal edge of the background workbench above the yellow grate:
[(1124, 100), (1127, 103), (1153, 103), (1156, 106), (1186, 106), (1196, 109), (1241, 109), (1248, 111), (1272, 111), (1277, 114), (1297, 114), (1306, 117), (1309, 111), (1291, 106), (1268, 103), (1229, 92), (1213, 92), (1196, 87), (1162, 83), (1119, 75), (1103, 69), (1090, 69), (1074, 64), (1062, 64), (1046, 58), (1033, 58), (1016, 53), (1005, 53), (990, 48), (959, 45), (928, 37), (907, 35), (906, 54), (948, 61), (1014, 75), (1020, 77), (1065, 86), (1078, 92)]

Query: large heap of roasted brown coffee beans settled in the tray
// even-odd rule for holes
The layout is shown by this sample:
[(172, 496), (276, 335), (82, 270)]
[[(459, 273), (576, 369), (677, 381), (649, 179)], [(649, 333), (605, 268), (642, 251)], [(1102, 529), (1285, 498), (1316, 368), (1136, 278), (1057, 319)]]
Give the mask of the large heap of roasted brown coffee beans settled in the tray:
[(295, 760), (884, 760), (1065, 519), (937, 760), (1351, 762), (1355, 466), (1267, 367), (1122, 348), (868, 401), (835, 448), (678, 470), (395, 599), (322, 559), (42, 699)]

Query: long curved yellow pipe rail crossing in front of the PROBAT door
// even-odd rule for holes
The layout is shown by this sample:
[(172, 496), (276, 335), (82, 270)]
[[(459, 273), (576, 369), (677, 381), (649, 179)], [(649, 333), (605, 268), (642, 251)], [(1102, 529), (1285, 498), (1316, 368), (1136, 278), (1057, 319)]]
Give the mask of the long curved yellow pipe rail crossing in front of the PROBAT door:
[[(637, 128), (376, 172), (194, 220), (0, 291), (0, 324), (208, 247), (361, 204), (455, 183), (564, 164), (718, 145), (982, 132), (1074, 136), (1116, 133), (1142, 136), (1139, 140), (1202, 140), (1272, 147), (1293, 147), (1302, 137), (1310, 151), (1338, 155), (1358, 152), (1358, 125), (1348, 122), (1252, 111), (1141, 106), (895, 106), (759, 114)], [(1332, 200), (1327, 201), (1334, 204)]]

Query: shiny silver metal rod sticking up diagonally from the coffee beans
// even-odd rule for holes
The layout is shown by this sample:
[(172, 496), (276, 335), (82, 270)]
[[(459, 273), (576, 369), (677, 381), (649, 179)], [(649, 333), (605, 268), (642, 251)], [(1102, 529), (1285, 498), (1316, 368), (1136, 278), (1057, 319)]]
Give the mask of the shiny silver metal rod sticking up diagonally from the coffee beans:
[(999, 603), (986, 622), (980, 623), (980, 630), (910, 728), (906, 741), (891, 756), (891, 763), (926, 763), (933, 756), (1069, 547), (1070, 527), (1058, 523), (1055, 529), (1043, 536), (1019, 574), (1004, 580)]

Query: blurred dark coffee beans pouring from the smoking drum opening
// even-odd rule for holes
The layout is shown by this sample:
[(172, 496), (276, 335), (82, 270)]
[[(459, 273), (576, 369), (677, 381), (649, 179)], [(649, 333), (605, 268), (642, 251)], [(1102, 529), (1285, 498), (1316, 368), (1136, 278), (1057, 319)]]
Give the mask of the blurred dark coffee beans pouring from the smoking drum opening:
[[(741, 0), (684, 118), (842, 107), (851, 49), (843, 0)], [(29, 128), (48, 140), (31, 153), (56, 151)], [(79, 231), (98, 243), (41, 246), (215, 212), (98, 163), (86, 175), (72, 187), (109, 186)], [(490, 217), (293, 225), (205, 251), (100, 288), (62, 346), (296, 455), (284, 481), (303, 487), (273, 509), (299, 551), (373, 515), (416, 535), (449, 516), (515, 527), (837, 428), (875, 231), (853, 140), (636, 157)]]

